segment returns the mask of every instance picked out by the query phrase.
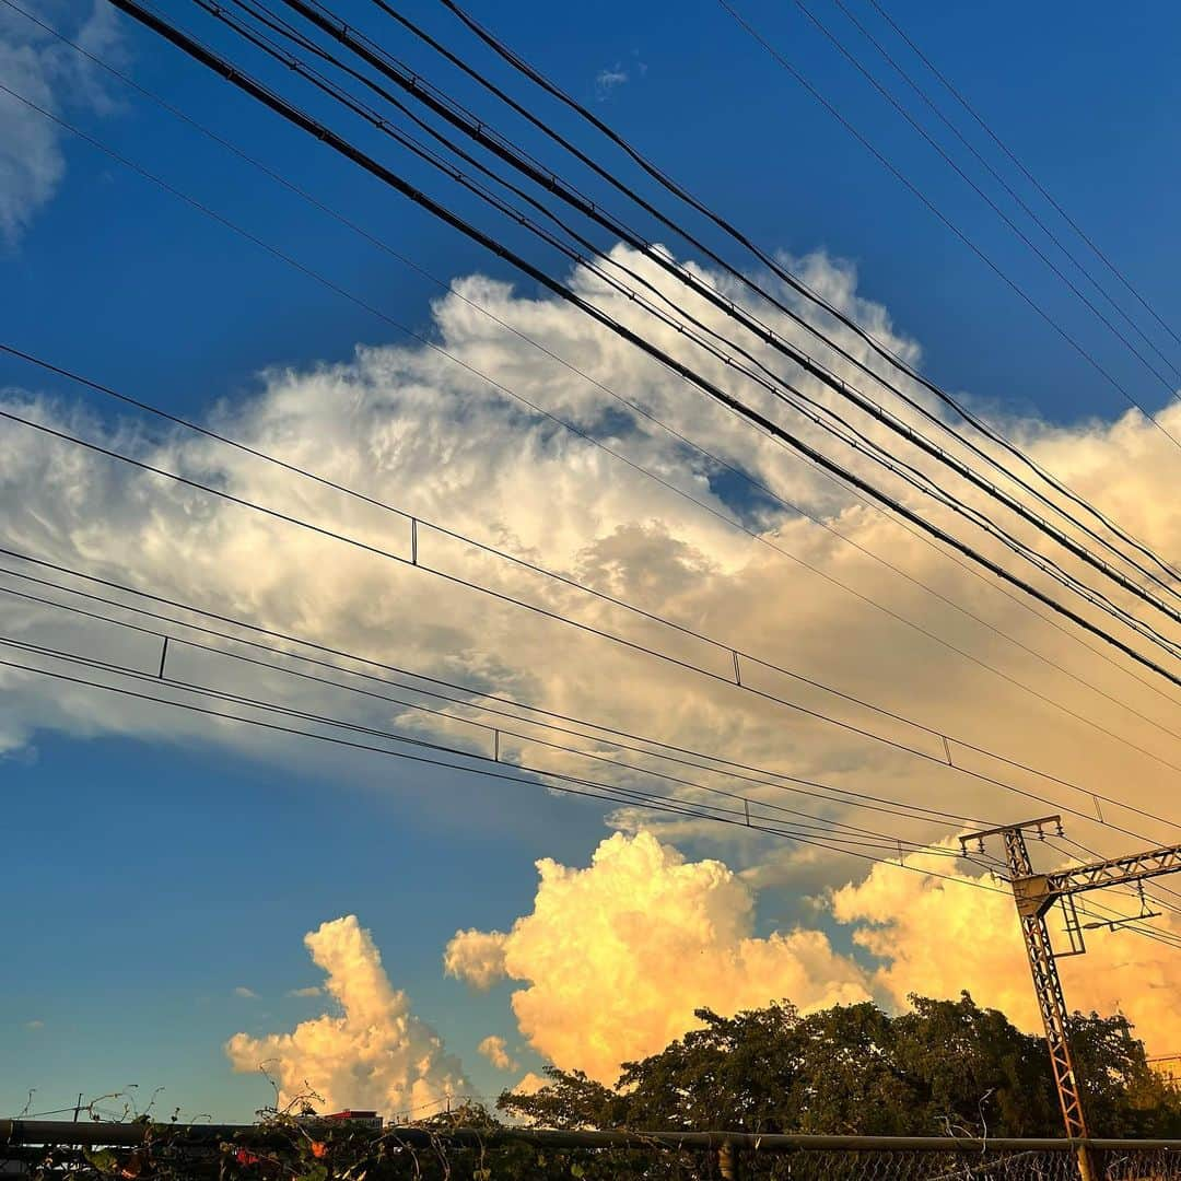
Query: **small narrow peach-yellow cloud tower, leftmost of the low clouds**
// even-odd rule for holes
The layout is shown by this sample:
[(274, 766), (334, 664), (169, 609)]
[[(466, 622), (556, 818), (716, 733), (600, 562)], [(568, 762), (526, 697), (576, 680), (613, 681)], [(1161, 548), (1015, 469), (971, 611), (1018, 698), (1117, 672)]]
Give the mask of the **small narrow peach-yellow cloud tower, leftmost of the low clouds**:
[(393, 1114), (466, 1091), (458, 1059), (392, 987), (355, 915), (325, 922), (304, 942), (340, 1013), (300, 1022), (291, 1033), (235, 1033), (226, 1045), (235, 1070), (266, 1069), (276, 1076), (282, 1102), (311, 1090), (326, 1110)]

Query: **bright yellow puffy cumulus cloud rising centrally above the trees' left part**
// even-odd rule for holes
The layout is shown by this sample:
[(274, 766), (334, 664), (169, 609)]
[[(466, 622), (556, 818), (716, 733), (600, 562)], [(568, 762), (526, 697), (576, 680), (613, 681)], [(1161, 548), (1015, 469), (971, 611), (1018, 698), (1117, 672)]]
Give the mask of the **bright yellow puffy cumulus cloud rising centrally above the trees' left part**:
[[(535, 1050), (614, 1082), (619, 1065), (694, 1024), (787, 997), (802, 1009), (863, 1000), (868, 980), (818, 931), (752, 934), (750, 890), (719, 861), (686, 861), (652, 835), (616, 833), (586, 869), (537, 862), (533, 913), (501, 937), (513, 1010)], [(487, 937), (459, 932), (445, 963), (488, 983)], [(471, 954), (469, 954), (471, 952)]]

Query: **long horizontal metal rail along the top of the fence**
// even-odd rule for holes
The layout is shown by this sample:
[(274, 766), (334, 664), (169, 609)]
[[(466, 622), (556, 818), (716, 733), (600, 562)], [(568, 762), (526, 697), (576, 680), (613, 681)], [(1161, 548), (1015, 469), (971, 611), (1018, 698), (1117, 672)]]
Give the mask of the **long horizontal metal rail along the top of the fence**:
[[(716, 1149), (723, 1144), (758, 1153), (1072, 1153), (1087, 1146), (1100, 1151), (1169, 1151), (1181, 1157), (1181, 1140), (1017, 1140), (990, 1136), (987, 1140), (952, 1136), (788, 1136), (753, 1135), (743, 1131), (563, 1131), (540, 1128), (428, 1129), (422, 1125), (372, 1129), (326, 1120), (331, 1133), (368, 1131), (374, 1140), (429, 1148), (441, 1141), (457, 1147), (529, 1143), (544, 1148), (631, 1148), (631, 1149)], [(4, 1144), (83, 1144), (87, 1148), (137, 1148), (167, 1142), (195, 1148), (216, 1148), (223, 1142), (266, 1146), (287, 1142), (281, 1133), (260, 1124), (170, 1124), (170, 1123), (70, 1123), (60, 1120), (0, 1120)], [(2, 1157), (0, 1147), (0, 1157)]]

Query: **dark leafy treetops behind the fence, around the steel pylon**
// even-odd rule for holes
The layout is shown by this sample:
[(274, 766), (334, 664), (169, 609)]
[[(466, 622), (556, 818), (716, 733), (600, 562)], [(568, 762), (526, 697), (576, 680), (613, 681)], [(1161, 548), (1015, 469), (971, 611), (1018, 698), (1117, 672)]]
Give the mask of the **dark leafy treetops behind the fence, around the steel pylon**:
[[(912, 997), (889, 1017), (870, 1003), (802, 1017), (790, 1004), (703, 1027), (628, 1063), (616, 1085), (550, 1070), (536, 1095), (500, 1107), (537, 1125), (861, 1135), (1061, 1136), (1045, 1043), (1004, 1013)], [(1181, 1135), (1181, 1097), (1149, 1070), (1123, 1017), (1072, 1022), (1096, 1135)]]

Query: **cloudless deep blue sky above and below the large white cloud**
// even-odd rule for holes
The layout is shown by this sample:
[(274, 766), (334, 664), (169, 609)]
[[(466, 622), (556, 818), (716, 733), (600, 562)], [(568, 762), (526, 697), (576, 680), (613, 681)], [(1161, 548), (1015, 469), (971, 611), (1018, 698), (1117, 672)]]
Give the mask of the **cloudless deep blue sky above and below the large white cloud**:
[[(182, 4), (167, 7), (208, 31)], [(348, 7), (351, 19), (402, 44), (367, 5)], [(1141, 400), (1164, 403), (1164, 391), (795, 6), (750, 0), (742, 9)], [(827, 0), (816, 9), (873, 60)], [(38, 11), (61, 27), (76, 24), (65, 4), (47, 0)], [(458, 38), (441, 6), (412, 11)], [(1091, 2), (981, 8), (915, 0), (892, 11), (1161, 314), (1181, 320), (1172, 197), (1181, 182), (1181, 12), (1125, 6), (1114, 19), (1110, 6)], [(850, 260), (861, 292), (922, 342), (928, 371), (946, 385), (984, 404), (1033, 407), (1052, 422), (1123, 411), (1118, 394), (717, 5), (530, 0), (476, 12), (761, 243)], [(393, 248), (444, 279), (509, 278), (503, 265), (130, 21), (117, 25), (118, 56), (136, 80), (249, 145)], [(412, 47), (407, 57), (430, 60)], [(596, 80), (605, 72), (616, 80)], [(97, 111), (59, 94), (59, 110), (360, 299), (430, 331), (428, 301), (438, 292), (429, 282), (118, 83), (106, 90), (113, 106)], [(66, 136), (61, 148), (66, 172), (56, 194), (0, 247), (7, 342), (188, 415), (256, 390), (265, 368), (345, 360), (358, 342), (400, 342), (389, 325), (86, 144)], [(409, 171), (426, 178), (420, 168)], [(0, 361), (0, 383), (32, 378)], [(63, 384), (37, 385), (76, 394)], [(309, 1016), (314, 1001), (286, 996), (319, 983), (300, 939), (353, 912), (373, 929), (394, 983), (463, 1055), (478, 1088), (495, 1092), (509, 1082), (472, 1050), (488, 1032), (520, 1042), (505, 993), (472, 997), (443, 979), (442, 946), (458, 927), (503, 927), (524, 913), (534, 859), (581, 863), (601, 829), (582, 805), (544, 801), (523, 817), (505, 815), (452, 776), (415, 774), (419, 790), (425, 783), (436, 796), (433, 807), (374, 790), (374, 772), (353, 759), (315, 759), (296, 775), (190, 745), (46, 731), (35, 753), (0, 763), (9, 835), (0, 1110), (19, 1109), (28, 1088), (37, 1088), (33, 1110), (43, 1110), (79, 1090), (135, 1082), (142, 1092), (165, 1085), (165, 1107), (248, 1115), (266, 1092), (229, 1072), (222, 1042)], [(234, 996), (239, 986), (257, 997)]]

